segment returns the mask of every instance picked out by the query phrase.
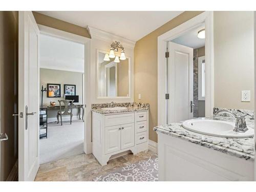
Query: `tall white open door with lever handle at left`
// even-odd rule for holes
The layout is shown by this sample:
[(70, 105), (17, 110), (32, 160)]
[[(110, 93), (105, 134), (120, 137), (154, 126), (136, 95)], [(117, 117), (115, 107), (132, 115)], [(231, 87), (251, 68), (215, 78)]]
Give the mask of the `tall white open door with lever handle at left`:
[(39, 29), (31, 11), (19, 11), (18, 20), (18, 179), (33, 181), (39, 168)]

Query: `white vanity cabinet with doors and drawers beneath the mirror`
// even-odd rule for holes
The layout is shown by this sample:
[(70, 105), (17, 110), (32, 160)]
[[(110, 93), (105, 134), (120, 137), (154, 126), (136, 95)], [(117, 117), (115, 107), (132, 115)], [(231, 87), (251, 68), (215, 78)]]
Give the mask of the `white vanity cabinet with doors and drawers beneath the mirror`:
[(131, 150), (148, 149), (148, 111), (122, 114), (92, 112), (93, 155), (101, 165), (110, 157)]

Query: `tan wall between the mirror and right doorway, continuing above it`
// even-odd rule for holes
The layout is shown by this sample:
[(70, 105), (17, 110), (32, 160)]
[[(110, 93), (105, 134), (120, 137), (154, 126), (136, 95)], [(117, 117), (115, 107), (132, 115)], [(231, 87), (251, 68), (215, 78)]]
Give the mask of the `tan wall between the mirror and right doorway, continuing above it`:
[[(136, 42), (134, 49), (134, 100), (150, 103), (149, 139), (157, 141), (157, 37), (197, 16), (202, 11), (186, 11)], [(141, 94), (141, 99), (138, 99)]]

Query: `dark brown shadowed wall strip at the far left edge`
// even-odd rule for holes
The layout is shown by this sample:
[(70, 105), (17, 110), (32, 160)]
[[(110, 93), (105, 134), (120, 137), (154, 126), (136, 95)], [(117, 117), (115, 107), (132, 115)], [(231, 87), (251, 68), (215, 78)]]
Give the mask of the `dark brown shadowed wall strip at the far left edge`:
[[(12, 116), (17, 95), (14, 92), (17, 70), (18, 12), (0, 11), (0, 132), (8, 141), (1, 142), (0, 181), (5, 181), (17, 160), (17, 127)], [(15, 142), (16, 141), (16, 142)]]

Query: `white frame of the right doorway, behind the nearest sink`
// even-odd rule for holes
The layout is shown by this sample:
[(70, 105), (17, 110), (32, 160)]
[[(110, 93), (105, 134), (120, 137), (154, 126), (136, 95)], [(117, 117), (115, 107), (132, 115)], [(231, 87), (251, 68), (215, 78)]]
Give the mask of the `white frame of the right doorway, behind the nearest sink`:
[[(167, 75), (165, 52), (167, 42), (171, 41), (187, 31), (205, 23), (205, 62), (209, 63), (205, 67), (205, 116), (213, 115), (214, 108), (214, 29), (213, 29), (213, 11), (205, 11), (187, 22), (175, 27), (172, 30), (158, 36), (157, 45), (157, 68), (158, 68), (158, 125), (167, 122), (167, 103), (165, 94), (167, 93)], [(170, 55), (171, 56), (171, 55)]]

